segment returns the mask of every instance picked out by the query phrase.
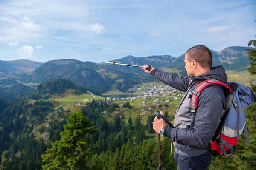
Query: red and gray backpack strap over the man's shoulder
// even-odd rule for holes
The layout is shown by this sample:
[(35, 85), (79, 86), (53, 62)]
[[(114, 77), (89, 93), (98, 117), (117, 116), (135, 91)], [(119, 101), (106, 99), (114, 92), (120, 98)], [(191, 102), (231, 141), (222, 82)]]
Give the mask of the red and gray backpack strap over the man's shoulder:
[(232, 91), (229, 86), (215, 79), (208, 79), (201, 82), (198, 86), (196, 86), (195, 91), (192, 92), (191, 96), (191, 125), (190, 129), (192, 129), (195, 125), (195, 113), (198, 106), (198, 97), (201, 92), (207, 88), (209, 85), (220, 85), (224, 88), (227, 88), (230, 92)]

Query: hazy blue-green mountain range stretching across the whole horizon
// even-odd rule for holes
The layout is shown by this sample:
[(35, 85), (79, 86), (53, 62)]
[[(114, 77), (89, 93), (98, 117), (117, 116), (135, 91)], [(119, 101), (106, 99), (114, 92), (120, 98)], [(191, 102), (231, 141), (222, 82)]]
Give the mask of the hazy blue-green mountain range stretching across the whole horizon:
[[(213, 66), (223, 65), (226, 70), (247, 70), (250, 64), (245, 51), (248, 47), (228, 47), (221, 51), (212, 51)], [(110, 62), (130, 65), (151, 64), (154, 68), (172, 68), (178, 70), (180, 76), (186, 76), (184, 69), (185, 54), (179, 57), (169, 55), (134, 57), (126, 56)], [(31, 65), (28, 67), (28, 65)], [(0, 61), (0, 79), (13, 77), (21, 82), (40, 83), (47, 79), (70, 79), (75, 85), (105, 92), (113, 88), (127, 91), (133, 85), (151, 79), (140, 68), (111, 65), (105, 63), (81, 62), (75, 59), (52, 60), (44, 64), (29, 60)], [(25, 68), (35, 69), (31, 74)], [(29, 69), (28, 69), (29, 70)], [(176, 73), (177, 74), (177, 73)], [(1, 82), (0, 82), (1, 84)]]

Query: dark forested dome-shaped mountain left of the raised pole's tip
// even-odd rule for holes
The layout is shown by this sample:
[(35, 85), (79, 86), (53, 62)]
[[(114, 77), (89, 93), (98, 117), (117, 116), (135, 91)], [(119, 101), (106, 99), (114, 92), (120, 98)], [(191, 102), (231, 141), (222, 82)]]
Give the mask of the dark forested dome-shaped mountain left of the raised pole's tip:
[(44, 82), (47, 79), (70, 79), (76, 85), (88, 88), (97, 88), (99, 91), (111, 89), (103, 77), (96, 72), (97, 64), (93, 62), (81, 62), (75, 59), (52, 60), (37, 68), (26, 82)]

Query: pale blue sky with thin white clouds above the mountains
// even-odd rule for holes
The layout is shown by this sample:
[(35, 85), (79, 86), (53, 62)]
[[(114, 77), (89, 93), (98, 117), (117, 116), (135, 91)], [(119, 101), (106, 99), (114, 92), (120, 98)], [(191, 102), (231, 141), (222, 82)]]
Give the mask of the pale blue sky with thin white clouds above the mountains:
[(255, 40), (256, 0), (1, 0), (0, 60), (178, 57)]

